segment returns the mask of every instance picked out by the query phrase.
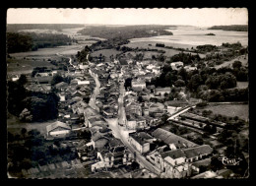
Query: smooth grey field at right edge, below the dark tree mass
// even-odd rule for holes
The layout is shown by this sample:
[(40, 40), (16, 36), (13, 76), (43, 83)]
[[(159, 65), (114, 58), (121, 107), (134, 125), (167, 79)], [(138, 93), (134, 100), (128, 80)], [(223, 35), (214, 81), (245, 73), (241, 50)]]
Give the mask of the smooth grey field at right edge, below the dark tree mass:
[(248, 120), (249, 105), (248, 104), (220, 104), (207, 105), (204, 110), (212, 110), (213, 114), (222, 114), (226, 116), (238, 116), (241, 119)]

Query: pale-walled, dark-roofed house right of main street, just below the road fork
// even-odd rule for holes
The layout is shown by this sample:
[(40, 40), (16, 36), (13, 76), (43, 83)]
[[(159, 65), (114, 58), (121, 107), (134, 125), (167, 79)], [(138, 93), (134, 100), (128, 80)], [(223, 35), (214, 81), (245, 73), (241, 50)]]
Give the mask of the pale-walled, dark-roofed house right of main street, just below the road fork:
[(137, 150), (140, 154), (145, 154), (150, 152), (150, 143), (147, 135), (140, 134), (137, 132), (129, 133), (128, 142), (131, 146)]

